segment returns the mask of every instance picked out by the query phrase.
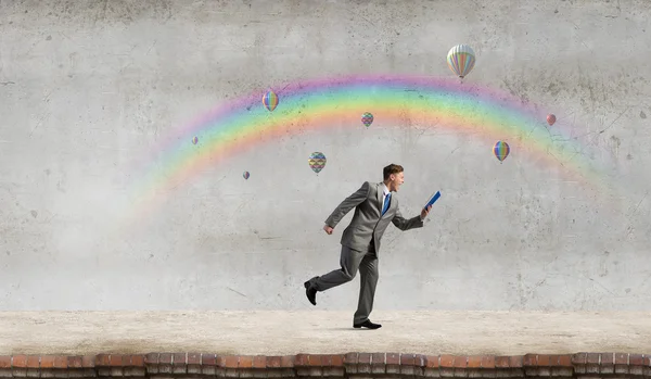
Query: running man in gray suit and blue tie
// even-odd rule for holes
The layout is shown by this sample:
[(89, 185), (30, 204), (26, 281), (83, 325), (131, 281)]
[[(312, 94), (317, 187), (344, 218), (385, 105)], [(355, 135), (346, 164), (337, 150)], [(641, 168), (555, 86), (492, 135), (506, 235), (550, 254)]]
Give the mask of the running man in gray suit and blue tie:
[(378, 329), (382, 327), (380, 324), (371, 323), (369, 314), (373, 308), (375, 285), (379, 277), (380, 241), (388, 223), (393, 223), (403, 231), (420, 228), (432, 209), (430, 205), (423, 209), (420, 215), (412, 218), (403, 217), (395, 192), (405, 182), (404, 168), (397, 164), (390, 164), (384, 167), (383, 176), (384, 181), (378, 184), (366, 181), (361, 185), (326, 219), (323, 230), (328, 235), (332, 235), (332, 230), (339, 222), (355, 207), (353, 220), (342, 235), (340, 260), (342, 268), (320, 277), (314, 277), (304, 283), (307, 299), (312, 305), (317, 305), (317, 292), (353, 280), (359, 270), (361, 283), (357, 312), (353, 318), (354, 328)]

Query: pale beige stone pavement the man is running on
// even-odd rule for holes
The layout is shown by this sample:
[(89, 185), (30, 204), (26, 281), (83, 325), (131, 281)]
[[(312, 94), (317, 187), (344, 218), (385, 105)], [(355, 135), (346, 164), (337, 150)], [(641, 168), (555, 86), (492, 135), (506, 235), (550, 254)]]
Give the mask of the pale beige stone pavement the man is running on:
[(425, 355), (651, 352), (651, 313), (386, 312), (379, 330), (352, 312), (3, 312), (0, 355), (219, 355), (394, 352)]

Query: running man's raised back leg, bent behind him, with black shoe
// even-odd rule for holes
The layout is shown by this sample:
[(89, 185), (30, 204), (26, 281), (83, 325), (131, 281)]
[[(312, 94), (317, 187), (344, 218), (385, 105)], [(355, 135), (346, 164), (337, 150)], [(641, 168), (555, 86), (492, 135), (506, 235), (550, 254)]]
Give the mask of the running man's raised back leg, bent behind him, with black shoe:
[(340, 266), (342, 268), (332, 270), (320, 277), (314, 277), (305, 282), (307, 299), (310, 301), (310, 303), (317, 305), (317, 291), (326, 291), (353, 280), (353, 278), (355, 278), (357, 275), (359, 263), (363, 256), (365, 252), (342, 245), (342, 253), (340, 257)]

